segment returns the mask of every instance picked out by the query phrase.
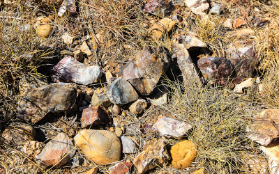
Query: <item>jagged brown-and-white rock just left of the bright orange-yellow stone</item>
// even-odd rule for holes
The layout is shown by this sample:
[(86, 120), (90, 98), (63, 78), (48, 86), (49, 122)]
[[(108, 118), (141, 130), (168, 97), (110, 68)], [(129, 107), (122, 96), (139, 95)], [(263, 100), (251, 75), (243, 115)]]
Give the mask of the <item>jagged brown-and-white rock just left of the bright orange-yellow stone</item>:
[(157, 166), (163, 167), (170, 157), (163, 139), (151, 139), (144, 145), (143, 151), (135, 157), (133, 164), (139, 173), (145, 173)]

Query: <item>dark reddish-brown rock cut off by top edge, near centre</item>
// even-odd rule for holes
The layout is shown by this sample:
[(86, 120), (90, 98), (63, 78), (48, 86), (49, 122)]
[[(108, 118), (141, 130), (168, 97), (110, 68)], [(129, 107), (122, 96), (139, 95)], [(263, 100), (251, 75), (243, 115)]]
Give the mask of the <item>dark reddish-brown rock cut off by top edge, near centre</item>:
[(147, 0), (144, 12), (151, 13), (158, 17), (167, 17), (174, 11), (172, 0)]

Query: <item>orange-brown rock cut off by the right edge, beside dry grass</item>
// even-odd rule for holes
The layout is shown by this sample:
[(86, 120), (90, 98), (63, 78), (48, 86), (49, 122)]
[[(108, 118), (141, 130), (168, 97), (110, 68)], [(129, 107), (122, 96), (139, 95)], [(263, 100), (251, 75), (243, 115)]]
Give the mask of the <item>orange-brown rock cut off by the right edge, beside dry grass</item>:
[(246, 127), (247, 136), (261, 145), (269, 145), (279, 137), (279, 109), (265, 109), (259, 113), (252, 125)]

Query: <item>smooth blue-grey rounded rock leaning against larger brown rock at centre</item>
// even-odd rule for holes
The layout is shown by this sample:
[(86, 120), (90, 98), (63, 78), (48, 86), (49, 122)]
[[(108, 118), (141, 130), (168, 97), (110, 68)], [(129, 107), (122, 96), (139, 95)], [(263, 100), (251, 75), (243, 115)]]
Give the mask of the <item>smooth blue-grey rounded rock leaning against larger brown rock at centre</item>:
[(123, 78), (114, 80), (106, 94), (113, 104), (127, 104), (139, 97), (133, 86)]

